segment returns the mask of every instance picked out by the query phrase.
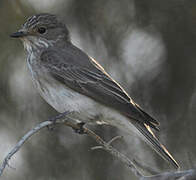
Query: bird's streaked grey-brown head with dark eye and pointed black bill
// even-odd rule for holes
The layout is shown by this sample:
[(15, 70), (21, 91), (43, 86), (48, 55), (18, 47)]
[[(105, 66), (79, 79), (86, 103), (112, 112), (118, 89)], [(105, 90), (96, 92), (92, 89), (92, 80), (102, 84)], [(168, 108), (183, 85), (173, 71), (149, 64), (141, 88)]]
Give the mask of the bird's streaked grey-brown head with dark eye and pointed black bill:
[(31, 51), (32, 48), (47, 48), (59, 41), (70, 41), (66, 26), (55, 15), (46, 13), (29, 17), (21, 29), (11, 34), (11, 37), (20, 38), (27, 51)]

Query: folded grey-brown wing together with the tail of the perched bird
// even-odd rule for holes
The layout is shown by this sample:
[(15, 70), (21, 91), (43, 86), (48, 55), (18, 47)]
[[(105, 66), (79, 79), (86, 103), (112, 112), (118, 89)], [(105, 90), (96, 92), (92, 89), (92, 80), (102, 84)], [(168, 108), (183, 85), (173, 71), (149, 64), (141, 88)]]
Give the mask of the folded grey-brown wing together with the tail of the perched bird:
[(56, 51), (48, 50), (42, 53), (40, 61), (56, 80), (129, 117), (155, 151), (178, 167), (177, 162), (156, 139), (150, 128), (158, 130), (159, 123), (134, 103), (95, 60), (80, 50), (74, 54), (68, 52), (64, 57)]

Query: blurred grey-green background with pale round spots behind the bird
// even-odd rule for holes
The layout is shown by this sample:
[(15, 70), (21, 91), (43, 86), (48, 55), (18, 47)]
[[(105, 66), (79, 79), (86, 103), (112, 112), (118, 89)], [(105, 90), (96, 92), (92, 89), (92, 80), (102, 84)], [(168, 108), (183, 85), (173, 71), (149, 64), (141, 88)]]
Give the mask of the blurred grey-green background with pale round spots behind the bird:
[[(32, 127), (57, 112), (34, 89), (22, 43), (9, 34), (30, 15), (48, 12), (67, 24), (72, 41), (94, 57), (131, 97), (161, 123), (158, 137), (182, 170), (196, 164), (195, 0), (0, 0), (0, 161)], [(106, 141), (123, 132), (88, 126)], [(12, 158), (4, 180), (134, 180), (97, 144), (56, 126), (33, 136)], [(145, 143), (114, 142), (130, 159), (172, 171)], [(147, 174), (145, 172), (145, 174)]]

